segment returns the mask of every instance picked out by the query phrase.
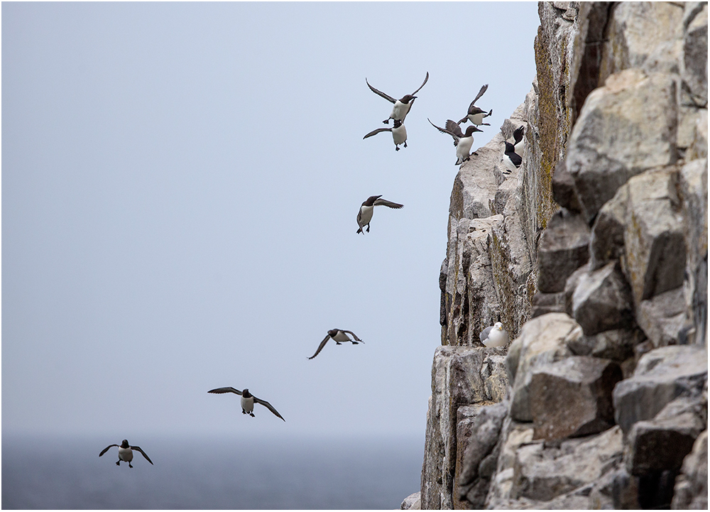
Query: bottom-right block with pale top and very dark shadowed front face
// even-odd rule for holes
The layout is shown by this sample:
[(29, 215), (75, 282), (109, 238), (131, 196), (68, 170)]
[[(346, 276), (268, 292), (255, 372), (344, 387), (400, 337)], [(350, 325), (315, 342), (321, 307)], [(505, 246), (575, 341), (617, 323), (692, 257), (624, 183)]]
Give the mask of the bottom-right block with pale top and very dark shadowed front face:
[(627, 471), (640, 476), (680, 469), (706, 422), (707, 401), (683, 397), (668, 403), (652, 420), (634, 423), (624, 457)]

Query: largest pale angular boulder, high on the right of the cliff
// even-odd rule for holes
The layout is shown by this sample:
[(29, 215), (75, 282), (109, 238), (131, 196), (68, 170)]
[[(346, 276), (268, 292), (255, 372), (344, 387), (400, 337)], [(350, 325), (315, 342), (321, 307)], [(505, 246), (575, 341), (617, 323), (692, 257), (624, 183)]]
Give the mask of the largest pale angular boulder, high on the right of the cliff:
[(631, 176), (675, 163), (676, 126), (669, 75), (625, 70), (589, 94), (567, 150), (567, 169), (587, 222)]

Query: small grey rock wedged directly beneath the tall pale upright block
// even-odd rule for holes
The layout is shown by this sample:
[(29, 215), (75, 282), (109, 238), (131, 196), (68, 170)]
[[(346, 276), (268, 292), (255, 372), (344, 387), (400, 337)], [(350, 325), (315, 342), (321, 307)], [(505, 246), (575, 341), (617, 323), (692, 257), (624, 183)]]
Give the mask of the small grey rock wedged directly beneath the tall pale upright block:
[(636, 308), (636, 322), (654, 347), (679, 344), (681, 331), (687, 323), (686, 304), (682, 287), (670, 290)]

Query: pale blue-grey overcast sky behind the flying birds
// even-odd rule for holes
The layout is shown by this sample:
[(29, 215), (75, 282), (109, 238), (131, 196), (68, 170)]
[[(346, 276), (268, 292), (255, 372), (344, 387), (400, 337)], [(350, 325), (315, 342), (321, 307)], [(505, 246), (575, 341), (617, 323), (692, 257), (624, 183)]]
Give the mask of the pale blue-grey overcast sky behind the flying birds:
[[(537, 4), (3, 3), (4, 433), (423, 435), (457, 173)], [(417, 94), (408, 148), (363, 140)], [(390, 125), (391, 126), (391, 125)], [(369, 195), (376, 208), (356, 235)], [(365, 344), (330, 342), (351, 329)], [(248, 387), (270, 401), (241, 415)]]

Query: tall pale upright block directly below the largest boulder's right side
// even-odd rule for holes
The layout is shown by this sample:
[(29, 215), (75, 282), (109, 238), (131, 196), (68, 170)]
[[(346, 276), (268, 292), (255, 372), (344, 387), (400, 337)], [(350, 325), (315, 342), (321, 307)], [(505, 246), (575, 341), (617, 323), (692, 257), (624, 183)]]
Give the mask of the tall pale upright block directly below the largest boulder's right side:
[(683, 284), (686, 247), (674, 168), (628, 180), (624, 273), (634, 303)]

